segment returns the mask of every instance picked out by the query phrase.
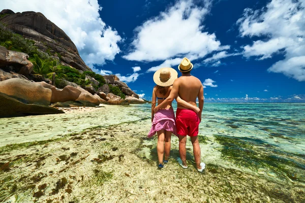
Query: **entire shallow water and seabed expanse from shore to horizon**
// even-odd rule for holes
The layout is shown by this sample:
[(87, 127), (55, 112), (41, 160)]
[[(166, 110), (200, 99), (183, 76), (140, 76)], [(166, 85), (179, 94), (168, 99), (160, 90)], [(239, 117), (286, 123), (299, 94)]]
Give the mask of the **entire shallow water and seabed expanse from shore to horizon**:
[[(170, 162), (156, 169), (157, 138), (146, 138), (148, 104), (2, 118), (0, 202), (302, 202), (304, 110), (304, 104), (205, 104), (202, 174), (190, 140), (188, 170), (176, 163), (175, 136)], [(32, 143), (7, 145), (24, 142)]]

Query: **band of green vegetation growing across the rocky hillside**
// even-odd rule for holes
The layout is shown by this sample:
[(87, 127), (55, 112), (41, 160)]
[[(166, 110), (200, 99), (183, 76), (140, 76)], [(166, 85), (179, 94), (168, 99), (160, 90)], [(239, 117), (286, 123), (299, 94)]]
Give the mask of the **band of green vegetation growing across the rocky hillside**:
[[(71, 66), (60, 64), (60, 61), (52, 57), (52, 55), (58, 56), (59, 60), (61, 60), (62, 55), (60, 53), (51, 53), (50, 47), (47, 49), (46, 53), (39, 51), (35, 46), (35, 41), (25, 39), (21, 35), (9, 30), (1, 23), (0, 46), (4, 46), (8, 50), (20, 51), (28, 54), (29, 60), (34, 64), (34, 74), (42, 75), (43, 77), (49, 78), (52, 81), (55, 79), (53, 82), (56, 87), (63, 88), (66, 86), (65, 81), (62, 79), (76, 83), (82, 88), (84, 88), (86, 85), (92, 85), (96, 90), (106, 84), (104, 77), (99, 74), (90, 71), (85, 71), (81, 74), (78, 70)], [(85, 80), (86, 75), (97, 80), (99, 85), (93, 84), (90, 80)], [(118, 87), (109, 85), (109, 88), (111, 93), (120, 96), (121, 98), (125, 98), (125, 94), (121, 92)]]

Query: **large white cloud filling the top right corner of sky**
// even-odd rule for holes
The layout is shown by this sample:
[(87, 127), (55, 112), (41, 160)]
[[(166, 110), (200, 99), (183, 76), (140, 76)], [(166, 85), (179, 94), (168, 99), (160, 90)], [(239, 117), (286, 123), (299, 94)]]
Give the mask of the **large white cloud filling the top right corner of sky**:
[(285, 59), (269, 67), (269, 72), (283, 73), (298, 81), (305, 81), (305, 1), (272, 0), (260, 10), (245, 9), (238, 19), (242, 37), (262, 37), (243, 46), (246, 57), (260, 60), (284, 53)]

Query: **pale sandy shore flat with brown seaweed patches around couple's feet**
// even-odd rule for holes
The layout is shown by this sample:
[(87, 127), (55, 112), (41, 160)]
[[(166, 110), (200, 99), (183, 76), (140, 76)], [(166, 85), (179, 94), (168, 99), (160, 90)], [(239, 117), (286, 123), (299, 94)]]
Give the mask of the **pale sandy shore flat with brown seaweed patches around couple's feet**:
[[(52, 135), (24, 131), (25, 122), (50, 119), (50, 115), (11, 118), (19, 121), (14, 137), (1, 135), (1, 202), (303, 202), (304, 185), (276, 181), (237, 167), (207, 161), (204, 173), (195, 168), (191, 142), (187, 144), (189, 168), (175, 161), (178, 139), (172, 137), (171, 157), (157, 169), (156, 136), (147, 139), (150, 118), (138, 107), (105, 106), (70, 110), (52, 115)], [(94, 123), (92, 120), (97, 119)], [(133, 116), (134, 115), (134, 116)], [(58, 117), (56, 117), (58, 116)], [(79, 117), (77, 117), (79, 116)], [(68, 120), (74, 118), (73, 124)], [(76, 119), (77, 118), (77, 119)], [(14, 120), (15, 119), (15, 120)], [(33, 120), (34, 119), (34, 120)], [(60, 125), (60, 122), (65, 125)], [(4, 122), (2, 120), (2, 122)], [(71, 119), (72, 122), (72, 119)], [(90, 123), (80, 127), (80, 123)], [(116, 123), (115, 123), (116, 122)], [(75, 125), (74, 129), (69, 125)], [(3, 125), (2, 125), (3, 126)], [(64, 128), (66, 126), (67, 128)], [(88, 128), (88, 126), (90, 128)], [(76, 129), (77, 128), (77, 129)], [(71, 131), (62, 131), (71, 129)], [(3, 130), (8, 130), (3, 128)], [(58, 135), (57, 135), (58, 133)], [(11, 134), (11, 136), (12, 136)], [(22, 137), (26, 137), (26, 139)], [(25, 142), (26, 141), (26, 142)], [(15, 142), (17, 144), (8, 143)], [(200, 140), (205, 156), (212, 143)], [(212, 158), (212, 157), (211, 157)]]

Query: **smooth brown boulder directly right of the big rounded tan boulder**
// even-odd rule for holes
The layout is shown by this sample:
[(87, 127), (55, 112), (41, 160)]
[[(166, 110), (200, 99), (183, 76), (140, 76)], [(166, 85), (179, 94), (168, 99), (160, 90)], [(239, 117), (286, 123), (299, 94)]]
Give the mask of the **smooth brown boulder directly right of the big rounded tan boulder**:
[(47, 84), (45, 82), (40, 82), (39, 84), (52, 91), (51, 103), (74, 101), (79, 97), (81, 93), (80, 89), (76, 87), (72, 87), (70, 85), (60, 90), (60, 89), (56, 89), (55, 86)]

